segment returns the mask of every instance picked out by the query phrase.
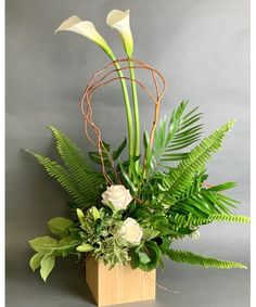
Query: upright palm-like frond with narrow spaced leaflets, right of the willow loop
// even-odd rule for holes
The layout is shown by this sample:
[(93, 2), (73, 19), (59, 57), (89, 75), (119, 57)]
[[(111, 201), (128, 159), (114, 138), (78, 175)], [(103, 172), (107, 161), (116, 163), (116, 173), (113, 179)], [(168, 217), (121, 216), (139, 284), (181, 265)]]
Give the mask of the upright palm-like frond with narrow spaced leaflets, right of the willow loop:
[(153, 144), (153, 158), (155, 166), (168, 168), (166, 162), (181, 161), (187, 153), (179, 152), (199, 141), (202, 135), (202, 124), (197, 124), (202, 113), (197, 113), (197, 107), (184, 114), (188, 101), (182, 101), (180, 105), (171, 112), (170, 118), (159, 121), (155, 131)]

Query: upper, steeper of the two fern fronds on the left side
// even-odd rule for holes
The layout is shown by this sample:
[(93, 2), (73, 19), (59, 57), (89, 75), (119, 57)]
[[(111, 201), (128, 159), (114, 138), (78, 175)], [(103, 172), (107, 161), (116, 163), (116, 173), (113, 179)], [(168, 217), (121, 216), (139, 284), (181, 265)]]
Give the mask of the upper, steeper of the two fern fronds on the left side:
[(97, 203), (100, 195), (98, 188), (104, 182), (103, 177), (93, 171), (80, 150), (67, 136), (54, 127), (49, 128), (55, 138), (57, 152), (74, 182), (85, 195), (86, 203)]

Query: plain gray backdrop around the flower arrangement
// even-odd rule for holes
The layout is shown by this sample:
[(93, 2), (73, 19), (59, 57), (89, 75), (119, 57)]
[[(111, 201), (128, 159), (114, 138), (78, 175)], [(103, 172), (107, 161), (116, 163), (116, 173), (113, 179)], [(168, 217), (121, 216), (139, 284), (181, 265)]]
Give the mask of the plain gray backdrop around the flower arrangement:
[[(208, 165), (209, 182), (235, 180), (230, 195), (249, 214), (249, 8), (246, 0), (7, 0), (7, 305), (9, 307), (92, 306), (84, 268), (60, 259), (44, 284), (28, 267), (27, 241), (48, 233), (46, 222), (67, 215), (67, 195), (31, 156), (54, 157), (47, 125), (71, 136), (86, 152), (78, 100), (91, 74), (108, 62), (101, 50), (74, 34), (54, 36), (66, 17), (95, 23), (121, 55), (119, 40), (105, 26), (112, 9), (130, 9), (136, 57), (158, 68), (168, 90), (162, 114), (182, 99), (205, 113), (205, 132), (236, 118), (221, 153)], [(95, 120), (113, 145), (126, 135), (124, 107), (115, 85), (95, 95)], [(143, 125), (152, 108), (141, 94)], [(118, 127), (118, 128), (117, 128)], [(201, 240), (176, 246), (249, 264), (249, 227), (210, 225)], [(206, 270), (166, 263), (158, 271), (157, 299), (130, 306), (246, 307), (249, 271)], [(178, 292), (178, 293), (175, 293)]]

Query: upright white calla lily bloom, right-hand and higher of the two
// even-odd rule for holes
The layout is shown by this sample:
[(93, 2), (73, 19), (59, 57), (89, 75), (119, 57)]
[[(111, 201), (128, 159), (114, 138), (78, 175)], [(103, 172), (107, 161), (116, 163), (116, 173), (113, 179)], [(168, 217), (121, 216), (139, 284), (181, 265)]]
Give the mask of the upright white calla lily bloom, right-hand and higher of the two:
[(133, 39), (130, 30), (130, 11), (125, 12), (112, 10), (106, 16), (106, 24), (116, 29), (125, 48), (128, 57), (131, 57), (133, 51)]

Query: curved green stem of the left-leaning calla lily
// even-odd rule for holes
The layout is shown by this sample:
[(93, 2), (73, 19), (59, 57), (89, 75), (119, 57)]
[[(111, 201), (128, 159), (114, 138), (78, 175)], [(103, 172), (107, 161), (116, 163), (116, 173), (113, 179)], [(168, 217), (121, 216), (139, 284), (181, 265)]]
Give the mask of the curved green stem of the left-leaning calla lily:
[(125, 100), (125, 107), (126, 107), (126, 118), (127, 118), (127, 126), (128, 126), (128, 146), (129, 146), (129, 175), (131, 175), (131, 168), (133, 167), (133, 125), (132, 125), (132, 114), (131, 114), (131, 107), (130, 107), (130, 100), (129, 100), (129, 94), (126, 86), (126, 81), (124, 79), (124, 74), (120, 71), (120, 66), (117, 62), (115, 62), (115, 56), (112, 56), (112, 61), (115, 63), (115, 67), (118, 73), (118, 76), (120, 77), (120, 85), (121, 85), (121, 90), (124, 94), (124, 100)]

